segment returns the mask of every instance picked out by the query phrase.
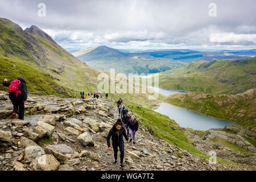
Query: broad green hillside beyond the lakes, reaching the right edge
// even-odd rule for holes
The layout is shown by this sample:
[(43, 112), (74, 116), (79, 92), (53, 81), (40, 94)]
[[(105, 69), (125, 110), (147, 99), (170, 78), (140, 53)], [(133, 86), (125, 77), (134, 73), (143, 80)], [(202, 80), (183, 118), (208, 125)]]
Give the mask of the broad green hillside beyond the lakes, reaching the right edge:
[(237, 94), (256, 87), (256, 57), (197, 61), (159, 74), (159, 86), (210, 94)]

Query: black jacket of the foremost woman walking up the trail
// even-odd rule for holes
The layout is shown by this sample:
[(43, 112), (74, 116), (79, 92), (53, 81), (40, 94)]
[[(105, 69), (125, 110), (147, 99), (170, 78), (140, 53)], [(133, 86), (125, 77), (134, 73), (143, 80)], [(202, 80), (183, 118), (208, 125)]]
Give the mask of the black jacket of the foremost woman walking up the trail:
[(109, 131), (108, 137), (107, 137), (107, 143), (108, 143), (108, 147), (110, 147), (110, 138), (112, 137), (112, 142), (115, 144), (119, 144), (119, 142), (121, 142), (123, 140), (123, 137), (125, 137), (125, 139), (128, 141), (128, 137), (127, 134), (125, 132), (125, 128), (122, 127), (119, 130), (119, 134), (117, 132), (117, 128), (115, 127), (115, 125), (112, 127), (112, 129)]

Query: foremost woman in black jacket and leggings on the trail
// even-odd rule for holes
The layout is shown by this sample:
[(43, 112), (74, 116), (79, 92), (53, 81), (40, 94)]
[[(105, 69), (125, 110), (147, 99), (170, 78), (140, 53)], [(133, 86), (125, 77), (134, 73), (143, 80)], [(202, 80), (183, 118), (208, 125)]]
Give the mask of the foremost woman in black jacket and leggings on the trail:
[(117, 151), (118, 147), (120, 150), (120, 167), (123, 167), (123, 157), (125, 156), (125, 145), (123, 143), (123, 137), (127, 140), (127, 143), (129, 143), (129, 138), (126, 135), (125, 128), (122, 127), (122, 121), (121, 119), (117, 119), (117, 122), (112, 127), (112, 129), (109, 131), (108, 137), (107, 137), (107, 143), (109, 151), (111, 151), (110, 147), (110, 137), (112, 137), (112, 146), (114, 150), (114, 158), (115, 162), (114, 164), (117, 164)]

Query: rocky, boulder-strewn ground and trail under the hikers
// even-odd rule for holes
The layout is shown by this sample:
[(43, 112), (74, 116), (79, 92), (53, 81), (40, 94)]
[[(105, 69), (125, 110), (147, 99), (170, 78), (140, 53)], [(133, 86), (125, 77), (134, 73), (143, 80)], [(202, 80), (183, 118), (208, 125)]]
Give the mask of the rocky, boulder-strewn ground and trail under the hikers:
[[(28, 96), (23, 121), (9, 119), (13, 106), (0, 92), (0, 170), (121, 170), (113, 164), (106, 135), (117, 120), (114, 100)], [(138, 118), (139, 120), (139, 118)], [(177, 155), (178, 154), (178, 155)], [(210, 165), (151, 135), (140, 125), (136, 144), (125, 143), (125, 170), (244, 170)]]

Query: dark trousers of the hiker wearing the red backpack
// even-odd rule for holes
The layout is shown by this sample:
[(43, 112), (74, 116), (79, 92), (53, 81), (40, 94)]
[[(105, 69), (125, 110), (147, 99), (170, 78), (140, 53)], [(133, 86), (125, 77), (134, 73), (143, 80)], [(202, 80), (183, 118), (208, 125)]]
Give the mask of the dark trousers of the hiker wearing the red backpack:
[(18, 94), (18, 97), (16, 97), (16, 94), (9, 94), (9, 98), (13, 103), (13, 113), (18, 114), (19, 110), (19, 119), (23, 119), (25, 106), (22, 95)]

